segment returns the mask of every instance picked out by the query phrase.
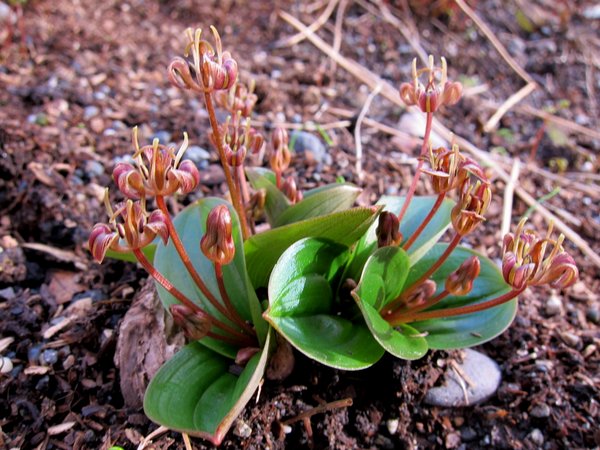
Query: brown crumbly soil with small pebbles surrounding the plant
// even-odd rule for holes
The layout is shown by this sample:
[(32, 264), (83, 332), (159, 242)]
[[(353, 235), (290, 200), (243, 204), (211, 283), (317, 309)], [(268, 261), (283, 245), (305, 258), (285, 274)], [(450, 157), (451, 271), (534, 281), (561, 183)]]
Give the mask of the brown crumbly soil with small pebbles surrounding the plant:
[[(394, 85), (407, 81), (414, 50), (383, 20), (378, 2), (339, 3), (343, 6), (317, 34), (333, 42), (339, 15), (345, 57)], [(483, 123), (524, 84), (490, 41), (451, 2), (388, 6), (410, 25), (408, 34), (426, 52), (448, 58), (452, 78), (465, 86), (487, 86), (441, 111), (443, 123), (490, 153), (529, 160), (519, 185), (535, 198), (560, 186), (544, 205), (600, 253), (600, 140), (569, 126), (561, 131), (547, 121), (538, 134), (544, 122), (531, 114), (550, 111), (588, 130), (600, 128), (600, 21), (588, 17), (593, 2), (471, 4), (538, 83), (494, 133), (485, 133)], [(280, 11), (309, 24), (327, 5), (26, 3), (24, 34), (17, 31), (0, 54), (0, 353), (14, 365), (0, 375), (0, 448), (133, 449), (157, 428), (141, 409), (126, 406), (113, 362), (120, 323), (139, 297), (145, 273), (118, 261), (95, 264), (85, 247), (92, 225), (105, 220), (103, 187), (112, 186), (112, 167), (132, 152), (134, 125), (144, 139), (175, 142), (186, 130), (194, 145), (211, 151), (195, 195), (225, 191), (199, 99), (170, 87), (166, 77), (167, 64), (183, 51), (185, 28), (212, 24), (220, 30), (242, 78), (256, 79), (255, 118), (267, 127), (350, 119), (349, 125), (328, 130), (331, 158), (324, 164), (314, 155), (295, 158), (301, 186), (341, 175), (365, 188), (363, 201), (407, 189), (415, 141), (366, 123), (361, 132), (367, 175), (360, 180), (354, 170), (353, 127), (369, 89), (306, 40), (279, 45), (296, 33)], [(402, 114), (376, 97), (368, 117), (397, 128)], [(535, 142), (539, 147), (531, 158)], [(504, 187), (494, 181), (488, 221), (469, 238), (493, 258), (498, 257)], [(513, 224), (526, 210), (515, 197)], [(538, 214), (531, 220), (543, 229)], [(292, 375), (264, 383), (258, 401), (246, 407), (222, 448), (597, 447), (600, 271), (573, 244), (565, 245), (581, 280), (565, 292), (531, 289), (522, 295), (513, 325), (478, 348), (500, 364), (503, 376), (496, 395), (483, 404), (448, 409), (422, 402), (427, 389), (442, 381), (454, 354), (430, 352), (412, 363), (385, 357), (357, 373), (328, 369), (296, 354)], [(352, 399), (351, 407), (327, 410), (310, 423), (284, 424), (310, 408), (346, 398)], [(192, 445), (210, 448), (199, 439)], [(147, 448), (179, 449), (184, 443), (181, 435), (165, 433)]]

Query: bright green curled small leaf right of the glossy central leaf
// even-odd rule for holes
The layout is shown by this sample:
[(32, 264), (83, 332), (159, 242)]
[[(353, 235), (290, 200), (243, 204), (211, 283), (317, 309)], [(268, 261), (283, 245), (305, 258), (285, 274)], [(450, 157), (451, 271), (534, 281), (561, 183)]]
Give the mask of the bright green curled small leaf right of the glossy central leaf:
[(392, 355), (418, 359), (427, 353), (427, 341), (408, 325), (392, 327), (380, 315), (383, 306), (393, 301), (404, 287), (409, 258), (398, 247), (383, 247), (367, 260), (360, 283), (352, 292), (373, 337)]

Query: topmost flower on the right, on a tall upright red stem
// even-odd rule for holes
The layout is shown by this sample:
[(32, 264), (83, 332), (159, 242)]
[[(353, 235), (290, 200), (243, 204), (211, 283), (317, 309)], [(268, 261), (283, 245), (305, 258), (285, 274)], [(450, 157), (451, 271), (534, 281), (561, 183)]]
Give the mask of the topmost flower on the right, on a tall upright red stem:
[[(442, 105), (454, 105), (462, 96), (462, 84), (448, 81), (448, 68), (446, 59), (441, 58), (442, 67), (435, 67), (433, 56), (429, 55), (429, 66), (417, 70), (417, 59), (413, 60), (413, 83), (400, 85), (400, 98), (407, 106), (418, 105), (424, 113), (433, 113)], [(427, 75), (427, 84), (423, 85), (419, 77)], [(436, 83), (436, 75), (440, 75)]]

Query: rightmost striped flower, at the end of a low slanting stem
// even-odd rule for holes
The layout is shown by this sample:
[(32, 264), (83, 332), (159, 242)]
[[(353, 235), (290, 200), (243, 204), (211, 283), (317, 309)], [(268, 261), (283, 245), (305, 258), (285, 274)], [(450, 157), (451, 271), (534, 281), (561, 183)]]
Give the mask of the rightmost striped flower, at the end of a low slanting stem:
[[(562, 247), (564, 235), (551, 238), (553, 224), (550, 224), (545, 238), (539, 238), (533, 231), (523, 230), (526, 218), (522, 219), (514, 234), (504, 236), (502, 246), (502, 275), (514, 289), (527, 286), (550, 285), (564, 289), (579, 278), (575, 260)], [(546, 256), (546, 250), (552, 250)]]

